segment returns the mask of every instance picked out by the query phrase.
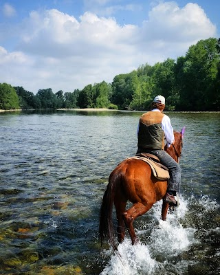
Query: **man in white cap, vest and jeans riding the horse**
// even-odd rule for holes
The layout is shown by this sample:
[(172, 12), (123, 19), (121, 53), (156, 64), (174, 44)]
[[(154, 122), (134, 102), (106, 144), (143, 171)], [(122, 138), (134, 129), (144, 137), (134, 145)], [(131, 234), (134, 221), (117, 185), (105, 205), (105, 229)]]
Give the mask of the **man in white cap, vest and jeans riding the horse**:
[(137, 154), (151, 153), (156, 155), (160, 162), (168, 168), (170, 179), (168, 180), (165, 199), (170, 206), (177, 206), (175, 196), (179, 192), (181, 168), (175, 162), (175, 159), (164, 151), (164, 137), (166, 138), (166, 146), (168, 148), (175, 143), (170, 118), (163, 113), (165, 107), (164, 96), (156, 96), (152, 107), (151, 111), (144, 113), (140, 117), (137, 130)]

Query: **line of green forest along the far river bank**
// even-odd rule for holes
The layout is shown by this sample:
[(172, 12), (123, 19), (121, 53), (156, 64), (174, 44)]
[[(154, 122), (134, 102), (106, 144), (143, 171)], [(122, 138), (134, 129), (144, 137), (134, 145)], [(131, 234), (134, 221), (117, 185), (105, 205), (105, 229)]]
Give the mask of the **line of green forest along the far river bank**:
[(155, 96), (166, 98), (167, 111), (220, 111), (220, 39), (210, 38), (189, 47), (185, 56), (155, 65), (140, 65), (119, 74), (112, 83), (89, 84), (72, 92), (0, 83), (0, 109), (108, 108), (148, 110)]

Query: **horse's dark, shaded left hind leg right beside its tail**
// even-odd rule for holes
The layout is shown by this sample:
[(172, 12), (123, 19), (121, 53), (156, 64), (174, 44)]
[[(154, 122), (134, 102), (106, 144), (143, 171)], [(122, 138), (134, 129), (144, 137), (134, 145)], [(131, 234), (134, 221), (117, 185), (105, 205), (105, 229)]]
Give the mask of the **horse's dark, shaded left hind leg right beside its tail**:
[(117, 234), (119, 243), (122, 243), (122, 241), (124, 241), (125, 224), (122, 213), (125, 211), (125, 207), (126, 201), (115, 202), (115, 210), (118, 221)]

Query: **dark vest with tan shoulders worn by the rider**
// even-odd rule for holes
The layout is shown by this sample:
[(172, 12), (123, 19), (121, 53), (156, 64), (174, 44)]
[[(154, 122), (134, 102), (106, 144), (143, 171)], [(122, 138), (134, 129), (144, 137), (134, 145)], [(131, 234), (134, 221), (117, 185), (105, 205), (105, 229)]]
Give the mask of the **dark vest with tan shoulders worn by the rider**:
[(164, 113), (159, 111), (148, 111), (140, 117), (137, 143), (139, 148), (164, 149), (163, 118)]

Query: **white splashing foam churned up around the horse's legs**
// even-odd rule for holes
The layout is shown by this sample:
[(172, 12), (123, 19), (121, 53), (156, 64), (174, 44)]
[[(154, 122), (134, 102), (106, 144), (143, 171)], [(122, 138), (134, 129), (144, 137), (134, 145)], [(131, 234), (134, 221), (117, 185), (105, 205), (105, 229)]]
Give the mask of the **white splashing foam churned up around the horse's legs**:
[[(100, 275), (136, 275), (166, 273), (169, 259), (187, 251), (190, 243), (195, 242), (193, 228), (184, 228), (179, 219), (184, 218), (188, 208), (187, 201), (181, 198), (181, 208), (167, 215), (166, 221), (161, 220), (162, 202), (153, 207), (155, 223), (147, 224), (146, 230), (136, 230), (137, 236), (146, 235), (144, 243), (131, 245), (129, 236), (118, 245), (118, 253), (114, 253)], [(152, 214), (152, 212), (151, 212)], [(149, 231), (149, 227), (151, 230)], [(186, 261), (179, 261), (173, 267), (176, 272), (187, 268)], [(178, 273), (178, 274), (181, 274)]]

